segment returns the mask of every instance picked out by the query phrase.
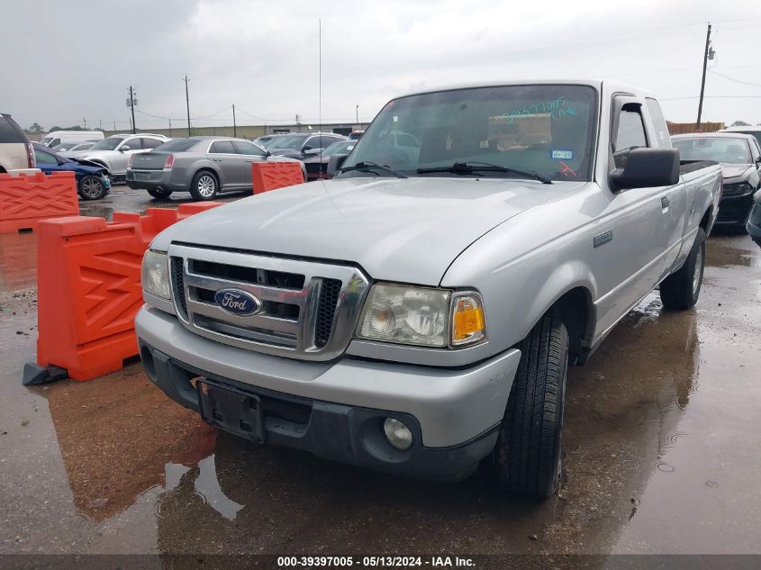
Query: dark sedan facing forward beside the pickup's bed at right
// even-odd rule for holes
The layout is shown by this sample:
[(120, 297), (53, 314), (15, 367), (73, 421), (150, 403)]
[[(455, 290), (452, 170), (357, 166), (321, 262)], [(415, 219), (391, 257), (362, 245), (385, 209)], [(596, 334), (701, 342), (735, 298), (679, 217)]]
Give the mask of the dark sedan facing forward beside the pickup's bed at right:
[(753, 135), (720, 131), (671, 137), (683, 161), (715, 160), (721, 165), (724, 190), (716, 223), (743, 229), (761, 187), (761, 146)]

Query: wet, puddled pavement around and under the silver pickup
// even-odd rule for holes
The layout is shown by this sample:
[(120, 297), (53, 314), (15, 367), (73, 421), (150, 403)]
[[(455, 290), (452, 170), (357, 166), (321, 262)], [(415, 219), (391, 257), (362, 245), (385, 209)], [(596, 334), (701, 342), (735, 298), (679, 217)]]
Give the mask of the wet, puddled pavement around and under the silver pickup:
[[(178, 203), (116, 186), (82, 210)], [(545, 502), (499, 496), (481, 472), (430, 484), (251, 447), (139, 362), (25, 388), (35, 247), (0, 235), (0, 553), (761, 553), (761, 249), (747, 236), (708, 241), (692, 311), (652, 294), (570, 370), (565, 477)]]

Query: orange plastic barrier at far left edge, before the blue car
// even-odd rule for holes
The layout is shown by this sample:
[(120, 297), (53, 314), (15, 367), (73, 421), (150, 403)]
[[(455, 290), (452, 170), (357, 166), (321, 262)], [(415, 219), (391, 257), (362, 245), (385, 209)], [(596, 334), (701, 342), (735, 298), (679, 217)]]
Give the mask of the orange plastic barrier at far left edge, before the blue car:
[(34, 230), (41, 220), (78, 213), (73, 172), (0, 174), (0, 233)]

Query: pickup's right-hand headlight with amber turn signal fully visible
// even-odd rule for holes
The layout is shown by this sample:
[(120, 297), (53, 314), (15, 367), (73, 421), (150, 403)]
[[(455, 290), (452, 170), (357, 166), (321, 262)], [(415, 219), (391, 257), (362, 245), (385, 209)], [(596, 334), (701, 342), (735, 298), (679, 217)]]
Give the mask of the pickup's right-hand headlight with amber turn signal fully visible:
[(486, 336), (484, 303), (474, 292), (376, 284), (358, 336), (426, 347), (462, 347)]

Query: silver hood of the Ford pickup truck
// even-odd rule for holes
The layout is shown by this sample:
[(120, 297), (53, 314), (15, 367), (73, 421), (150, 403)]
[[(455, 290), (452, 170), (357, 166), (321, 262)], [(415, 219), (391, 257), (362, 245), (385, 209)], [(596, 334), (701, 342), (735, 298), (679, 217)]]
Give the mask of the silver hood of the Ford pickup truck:
[(345, 261), (375, 279), (439, 285), (451, 262), (486, 232), (584, 184), (473, 177), (318, 181), (196, 214), (159, 234), (151, 248), (166, 251), (170, 242), (184, 242)]

